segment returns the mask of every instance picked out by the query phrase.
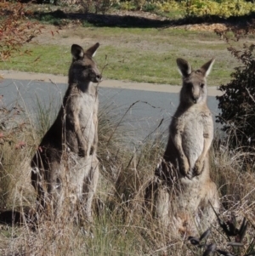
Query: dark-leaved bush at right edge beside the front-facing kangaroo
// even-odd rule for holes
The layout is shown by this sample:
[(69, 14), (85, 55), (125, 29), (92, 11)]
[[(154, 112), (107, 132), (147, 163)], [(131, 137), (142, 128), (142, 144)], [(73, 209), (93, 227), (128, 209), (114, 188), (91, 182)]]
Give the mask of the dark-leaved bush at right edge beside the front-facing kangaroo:
[(231, 82), (219, 87), (224, 94), (217, 97), (218, 108), (221, 110), (217, 122), (223, 124), (230, 147), (245, 146), (246, 151), (253, 151), (255, 143), (255, 44), (244, 43), (242, 48), (238, 49), (231, 45), (229, 37), (234, 33), (233, 39), (238, 41), (242, 36), (254, 32), (254, 24), (246, 26), (246, 30), (234, 27), (217, 31), (229, 43), (229, 52), (241, 62), (231, 74)]

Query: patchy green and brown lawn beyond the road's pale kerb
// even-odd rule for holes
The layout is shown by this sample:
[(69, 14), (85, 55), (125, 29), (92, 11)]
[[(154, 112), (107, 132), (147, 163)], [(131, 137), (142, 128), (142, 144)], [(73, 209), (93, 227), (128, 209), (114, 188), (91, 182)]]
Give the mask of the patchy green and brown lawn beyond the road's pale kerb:
[(176, 58), (190, 60), (198, 68), (216, 57), (208, 78), (209, 85), (216, 86), (229, 82), (229, 75), (237, 65), (227, 44), (212, 31), (80, 26), (59, 31), (47, 42), (40, 37), (39, 44), (31, 43), (23, 48), (31, 54), (16, 54), (11, 60), (1, 62), (0, 69), (67, 75), (71, 43), (87, 38), (101, 44), (95, 60), (101, 69), (107, 64), (103, 73), (105, 78), (175, 85), (180, 83)]

